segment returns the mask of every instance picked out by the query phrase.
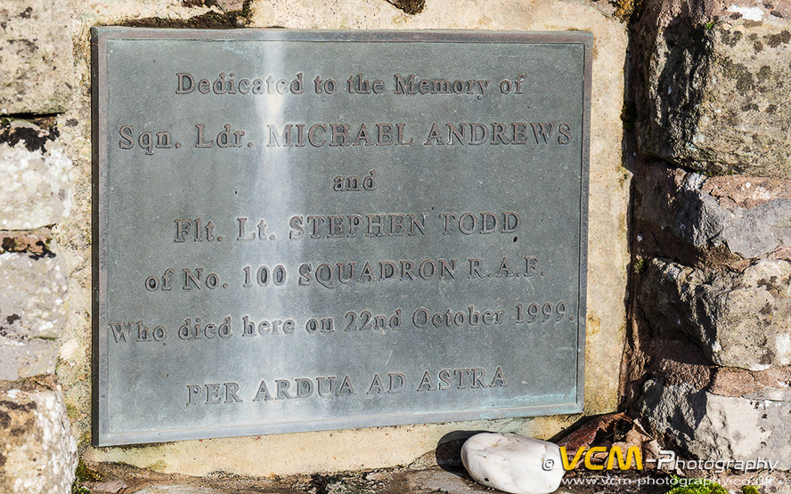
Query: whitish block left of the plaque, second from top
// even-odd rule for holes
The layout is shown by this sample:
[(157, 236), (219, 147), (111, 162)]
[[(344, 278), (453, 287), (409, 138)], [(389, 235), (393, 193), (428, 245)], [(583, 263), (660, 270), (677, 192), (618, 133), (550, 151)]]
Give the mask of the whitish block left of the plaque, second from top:
[[(31, 124), (16, 125), (37, 132)], [(26, 142), (0, 143), (0, 229), (32, 230), (63, 221), (71, 210), (71, 169), (59, 142), (33, 150)]]

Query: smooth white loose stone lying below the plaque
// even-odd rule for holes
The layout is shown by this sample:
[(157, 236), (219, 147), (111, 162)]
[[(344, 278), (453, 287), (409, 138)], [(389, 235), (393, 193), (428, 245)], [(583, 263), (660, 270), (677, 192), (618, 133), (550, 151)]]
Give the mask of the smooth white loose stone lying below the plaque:
[(554, 492), (566, 473), (557, 444), (514, 433), (470, 437), (461, 461), (476, 482), (514, 494)]

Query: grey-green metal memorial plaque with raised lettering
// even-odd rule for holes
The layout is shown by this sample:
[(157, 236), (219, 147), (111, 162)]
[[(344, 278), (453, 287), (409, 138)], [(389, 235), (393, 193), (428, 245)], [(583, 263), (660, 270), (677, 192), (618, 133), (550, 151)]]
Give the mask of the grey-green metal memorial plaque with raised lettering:
[(94, 29), (97, 445), (582, 409), (589, 33)]

